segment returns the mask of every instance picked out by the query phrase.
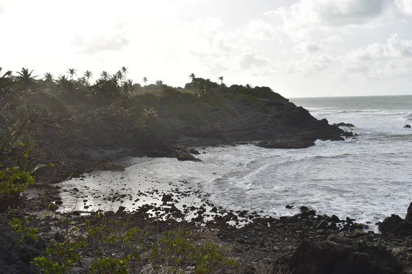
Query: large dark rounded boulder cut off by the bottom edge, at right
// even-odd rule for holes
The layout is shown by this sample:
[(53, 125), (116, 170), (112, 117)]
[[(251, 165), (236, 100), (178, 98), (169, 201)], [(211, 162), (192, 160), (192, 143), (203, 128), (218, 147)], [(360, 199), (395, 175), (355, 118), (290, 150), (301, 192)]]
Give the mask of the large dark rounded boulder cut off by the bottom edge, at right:
[(289, 269), (294, 269), (294, 274), (396, 274), (402, 273), (403, 266), (380, 247), (304, 240), (290, 258)]

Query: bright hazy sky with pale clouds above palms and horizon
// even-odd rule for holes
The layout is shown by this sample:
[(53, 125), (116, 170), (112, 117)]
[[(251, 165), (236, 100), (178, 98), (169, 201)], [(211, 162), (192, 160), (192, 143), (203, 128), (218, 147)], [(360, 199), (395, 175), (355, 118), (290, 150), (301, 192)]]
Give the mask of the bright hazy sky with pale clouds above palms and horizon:
[(412, 0), (0, 0), (0, 66), (55, 77), (122, 66), (284, 97), (412, 95)]

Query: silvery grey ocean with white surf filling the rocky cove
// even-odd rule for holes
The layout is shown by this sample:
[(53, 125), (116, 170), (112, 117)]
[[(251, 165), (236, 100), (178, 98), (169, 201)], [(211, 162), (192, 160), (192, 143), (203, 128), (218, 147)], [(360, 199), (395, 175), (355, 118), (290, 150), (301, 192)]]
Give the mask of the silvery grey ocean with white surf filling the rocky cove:
[[(402, 218), (412, 201), (412, 96), (290, 99), (329, 123), (352, 123), (356, 138), (320, 141), (308, 149), (264, 149), (255, 145), (198, 148), (202, 162), (172, 158), (127, 158), (124, 172), (98, 171), (61, 184), (67, 210), (133, 210), (156, 203), (139, 192), (193, 191), (181, 204), (205, 200), (227, 210), (251, 210), (274, 217), (300, 206), (317, 214), (350, 216), (358, 223)], [(73, 194), (70, 190), (79, 188)], [(130, 199), (103, 200), (110, 193)], [(199, 195), (199, 193), (205, 195)], [(105, 196), (103, 196), (105, 195)], [(82, 202), (84, 198), (87, 202)], [(136, 196), (137, 197), (137, 196)], [(292, 210), (286, 205), (294, 206)], [(178, 205), (179, 206), (179, 205)]]

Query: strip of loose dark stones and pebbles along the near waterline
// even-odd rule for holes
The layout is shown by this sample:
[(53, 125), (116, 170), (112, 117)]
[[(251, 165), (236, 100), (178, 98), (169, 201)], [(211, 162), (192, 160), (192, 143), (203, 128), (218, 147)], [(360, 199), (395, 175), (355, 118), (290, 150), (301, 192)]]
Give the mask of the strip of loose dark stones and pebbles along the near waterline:
[[(142, 223), (157, 224), (157, 226), (161, 225), (165, 231), (185, 227), (195, 235), (197, 240), (207, 238), (209, 242), (236, 251), (239, 260), (248, 258), (249, 264), (255, 267), (255, 271), (268, 265), (286, 267), (293, 253), (301, 248), (302, 242), (320, 240), (336, 242), (354, 249), (383, 246), (385, 250), (402, 261), (408, 271), (412, 271), (412, 260), (410, 260), (412, 258), (412, 236), (402, 236), (391, 232), (376, 234), (367, 231), (365, 225), (358, 224), (351, 219), (340, 220), (334, 215), (319, 215), (306, 207), (302, 207), (299, 214), (273, 218), (272, 216), (260, 216), (260, 212), (246, 210), (233, 212), (207, 202), (199, 207), (186, 205), (185, 208), (181, 208), (177, 206), (179, 198), (187, 193), (181, 192), (181, 197), (172, 196), (167, 192), (157, 194), (162, 197), (161, 204), (144, 203), (133, 212), (127, 212), (122, 206), (107, 212), (72, 211), (51, 214), (52, 219), (49, 221), (54, 220), (57, 223), (52, 223), (58, 226), (58, 220), (65, 219), (78, 225), (84, 223), (82, 220), (93, 219), (99, 215), (108, 219), (132, 219), (140, 220), (139, 222)], [(41, 201), (38, 202), (41, 203)], [(194, 215), (196, 219), (190, 219), (189, 212), (196, 212)], [(37, 220), (42, 222), (42, 218)], [(37, 221), (34, 220), (34, 222)], [(51, 231), (53, 232), (54, 229)]]

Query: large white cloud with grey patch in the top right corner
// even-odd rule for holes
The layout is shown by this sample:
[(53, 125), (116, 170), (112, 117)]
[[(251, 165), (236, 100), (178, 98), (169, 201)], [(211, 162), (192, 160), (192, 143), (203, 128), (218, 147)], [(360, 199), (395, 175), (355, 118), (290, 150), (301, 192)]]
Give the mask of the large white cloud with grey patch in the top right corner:
[(405, 16), (412, 16), (411, 0), (299, 0), (265, 12), (260, 27), (303, 40), (330, 35), (331, 29), (347, 33), (353, 27), (375, 27)]

